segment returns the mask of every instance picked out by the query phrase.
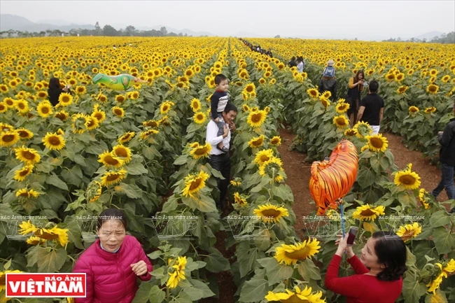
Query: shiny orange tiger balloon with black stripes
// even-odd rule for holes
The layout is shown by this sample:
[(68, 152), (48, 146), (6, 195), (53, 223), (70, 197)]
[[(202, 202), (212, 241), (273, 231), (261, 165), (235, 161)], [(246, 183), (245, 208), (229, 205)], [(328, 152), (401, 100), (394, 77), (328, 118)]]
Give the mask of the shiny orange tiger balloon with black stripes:
[(317, 216), (323, 216), (328, 207), (337, 208), (335, 201), (351, 190), (357, 169), (357, 148), (345, 139), (335, 146), (329, 160), (311, 164), (309, 190), (318, 206)]

